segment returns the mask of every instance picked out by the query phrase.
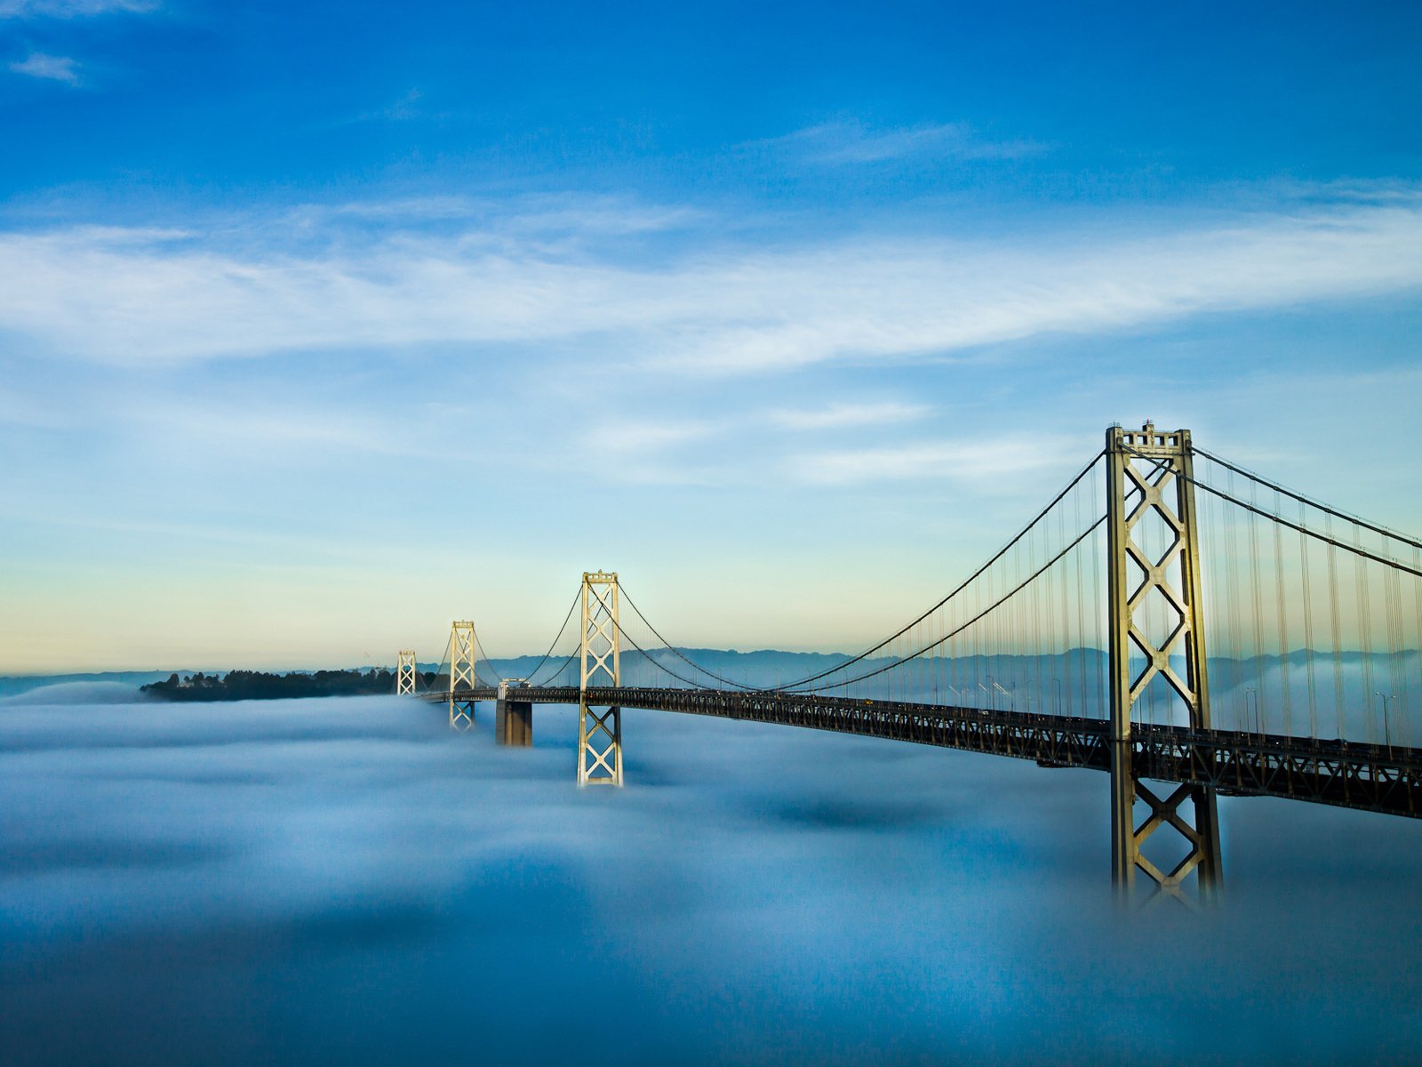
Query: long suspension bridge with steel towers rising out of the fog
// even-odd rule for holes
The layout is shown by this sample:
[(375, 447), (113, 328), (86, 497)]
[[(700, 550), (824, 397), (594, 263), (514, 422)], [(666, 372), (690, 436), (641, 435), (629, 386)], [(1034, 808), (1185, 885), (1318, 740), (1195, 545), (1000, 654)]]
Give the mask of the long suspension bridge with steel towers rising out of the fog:
[(1118, 888), (1207, 899), (1220, 794), (1422, 815), (1419, 647), (1422, 541), (1146, 423), (937, 603), (802, 677), (667, 642), (597, 570), (543, 656), (491, 660), (455, 622), (437, 670), (400, 653), (397, 690), (456, 730), (493, 701), (509, 745), (535, 704), (576, 706), (580, 785), (623, 784), (626, 707), (1105, 771)]

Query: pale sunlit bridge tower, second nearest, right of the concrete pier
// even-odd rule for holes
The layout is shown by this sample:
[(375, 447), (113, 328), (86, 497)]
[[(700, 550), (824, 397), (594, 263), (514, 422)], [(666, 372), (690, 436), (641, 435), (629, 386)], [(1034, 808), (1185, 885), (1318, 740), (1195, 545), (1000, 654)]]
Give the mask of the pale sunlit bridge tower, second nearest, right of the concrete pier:
[[(597, 703), (599, 681), (621, 684), (616, 572), (583, 572), (583, 670), (577, 684), (577, 784), (621, 785), (621, 708)], [(599, 714), (597, 708), (606, 708)]]

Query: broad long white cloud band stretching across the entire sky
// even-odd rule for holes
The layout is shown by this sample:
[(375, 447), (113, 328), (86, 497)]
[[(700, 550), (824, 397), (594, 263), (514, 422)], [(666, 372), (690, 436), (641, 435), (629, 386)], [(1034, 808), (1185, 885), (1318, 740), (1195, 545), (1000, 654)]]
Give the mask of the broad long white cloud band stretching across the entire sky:
[(1416, 195), (1256, 212), (1230, 226), (747, 245), (636, 266), (620, 248), (553, 250), (508, 221), (496, 239), (486, 228), (361, 236), (320, 225), (334, 233), (300, 252), (270, 233), (240, 252), (172, 232), (0, 233), (0, 327), (115, 364), (518, 343), (576, 346), (603, 366), (729, 374), (1422, 286)]

